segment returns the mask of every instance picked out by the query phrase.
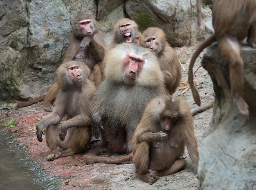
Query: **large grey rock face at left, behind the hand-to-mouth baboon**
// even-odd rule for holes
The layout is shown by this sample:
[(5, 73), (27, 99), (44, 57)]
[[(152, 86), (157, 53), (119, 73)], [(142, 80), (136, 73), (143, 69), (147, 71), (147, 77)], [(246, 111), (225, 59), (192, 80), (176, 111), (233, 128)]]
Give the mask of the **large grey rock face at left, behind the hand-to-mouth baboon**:
[(0, 2), (0, 100), (38, 97), (49, 89), (65, 56), (73, 18), (80, 11), (96, 15), (96, 4), (88, 4)]

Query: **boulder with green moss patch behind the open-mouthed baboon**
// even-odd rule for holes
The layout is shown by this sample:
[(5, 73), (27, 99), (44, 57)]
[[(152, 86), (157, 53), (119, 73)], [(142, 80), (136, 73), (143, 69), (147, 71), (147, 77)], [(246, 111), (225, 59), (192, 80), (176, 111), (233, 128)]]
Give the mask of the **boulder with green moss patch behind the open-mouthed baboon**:
[[(126, 12), (144, 31), (148, 27), (159, 27), (166, 32), (173, 46), (193, 44), (201, 40), (198, 31), (196, 0), (130, 0), (125, 3)], [(202, 7), (202, 20), (211, 17), (211, 10)]]

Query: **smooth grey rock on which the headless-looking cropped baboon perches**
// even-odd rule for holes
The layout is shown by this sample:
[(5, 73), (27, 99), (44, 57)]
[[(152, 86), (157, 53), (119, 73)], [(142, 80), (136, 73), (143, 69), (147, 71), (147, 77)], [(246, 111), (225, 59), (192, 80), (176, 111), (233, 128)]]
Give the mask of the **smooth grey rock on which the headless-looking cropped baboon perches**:
[(256, 189), (256, 49), (243, 45), (240, 54), (249, 120), (240, 115), (232, 101), (229, 66), (220, 55), (218, 44), (204, 51), (202, 66), (211, 75), (216, 97), (213, 119), (204, 132), (200, 149), (199, 189)]

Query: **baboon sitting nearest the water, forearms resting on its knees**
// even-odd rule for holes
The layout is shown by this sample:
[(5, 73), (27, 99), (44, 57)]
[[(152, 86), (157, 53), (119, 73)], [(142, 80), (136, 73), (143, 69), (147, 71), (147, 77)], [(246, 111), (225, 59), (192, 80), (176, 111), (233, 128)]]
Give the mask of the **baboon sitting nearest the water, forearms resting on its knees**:
[[(90, 69), (81, 61), (64, 62), (57, 70), (60, 86), (52, 113), (43, 117), (36, 126), (36, 136), (46, 143), (51, 153), (46, 160), (83, 152), (90, 143), (92, 118), (90, 106), (96, 88), (88, 79)], [(66, 116), (66, 120), (61, 122)], [(58, 148), (64, 151), (59, 152)]]

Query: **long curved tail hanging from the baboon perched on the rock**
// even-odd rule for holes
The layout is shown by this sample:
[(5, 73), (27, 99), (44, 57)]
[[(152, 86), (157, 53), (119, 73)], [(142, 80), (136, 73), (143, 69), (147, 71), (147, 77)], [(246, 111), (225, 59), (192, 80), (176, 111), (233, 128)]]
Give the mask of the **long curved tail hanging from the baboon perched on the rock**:
[(195, 64), (195, 60), (198, 57), (198, 55), (201, 53), (201, 51), (203, 51), (204, 48), (206, 48), (207, 46), (211, 45), (213, 42), (216, 42), (216, 38), (214, 33), (207, 38), (206, 40), (204, 40), (199, 46), (198, 48), (195, 50), (195, 53), (193, 54), (190, 64), (189, 64), (189, 85), (191, 87), (192, 90), (192, 95), (193, 98), (195, 100), (195, 103), (198, 104), (198, 106), (200, 106), (201, 102), (200, 102), (200, 96), (198, 91), (196, 90), (195, 86), (194, 86), (194, 82), (193, 82), (193, 66)]

